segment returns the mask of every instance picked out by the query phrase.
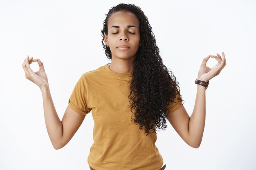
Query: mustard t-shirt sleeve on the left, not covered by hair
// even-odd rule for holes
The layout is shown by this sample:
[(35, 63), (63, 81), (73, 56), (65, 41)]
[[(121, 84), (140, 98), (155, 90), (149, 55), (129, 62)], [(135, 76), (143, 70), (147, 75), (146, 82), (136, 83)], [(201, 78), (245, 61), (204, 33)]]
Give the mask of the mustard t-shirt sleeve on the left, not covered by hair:
[(88, 108), (88, 83), (82, 75), (74, 87), (68, 105), (77, 113), (87, 115), (92, 110)]

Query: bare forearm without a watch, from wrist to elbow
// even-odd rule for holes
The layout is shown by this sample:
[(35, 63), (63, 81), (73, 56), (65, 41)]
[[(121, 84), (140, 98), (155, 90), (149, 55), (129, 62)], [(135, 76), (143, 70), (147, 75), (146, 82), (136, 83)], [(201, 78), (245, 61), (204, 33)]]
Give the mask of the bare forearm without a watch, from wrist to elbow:
[(57, 149), (59, 147), (58, 145), (61, 143), (60, 141), (63, 135), (62, 122), (59, 119), (56, 109), (54, 107), (49, 86), (40, 90), (43, 95), (43, 108), (47, 132), (52, 142), (52, 145), (55, 149)]

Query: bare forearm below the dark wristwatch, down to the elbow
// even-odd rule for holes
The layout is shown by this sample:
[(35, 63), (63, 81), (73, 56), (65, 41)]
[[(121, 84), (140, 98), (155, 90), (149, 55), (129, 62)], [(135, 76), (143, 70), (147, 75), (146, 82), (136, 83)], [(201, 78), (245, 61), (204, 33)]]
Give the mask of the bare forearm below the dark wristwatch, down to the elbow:
[(206, 88), (197, 85), (197, 93), (195, 97), (195, 106), (193, 113), (189, 119), (189, 138), (190, 144), (194, 148), (198, 148), (201, 144), (204, 125), (205, 125), (205, 90)]

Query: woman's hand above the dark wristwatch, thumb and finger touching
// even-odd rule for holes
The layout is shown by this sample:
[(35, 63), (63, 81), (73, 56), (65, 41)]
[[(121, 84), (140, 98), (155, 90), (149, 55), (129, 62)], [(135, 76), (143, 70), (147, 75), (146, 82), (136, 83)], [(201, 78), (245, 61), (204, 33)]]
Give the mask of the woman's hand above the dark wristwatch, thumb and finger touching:
[[(206, 66), (206, 63), (210, 57), (213, 57), (218, 61), (216, 66), (213, 66), (213, 68), (209, 68)], [(203, 59), (201, 67), (198, 71), (198, 80), (208, 82), (210, 79), (212, 79), (216, 75), (219, 75), (220, 71), (222, 71), (222, 69), (225, 66), (226, 66), (226, 56), (225, 56), (224, 52), (222, 52), (222, 58), (218, 53), (217, 53), (217, 56), (216, 55), (208, 55), (207, 57), (205, 57)]]

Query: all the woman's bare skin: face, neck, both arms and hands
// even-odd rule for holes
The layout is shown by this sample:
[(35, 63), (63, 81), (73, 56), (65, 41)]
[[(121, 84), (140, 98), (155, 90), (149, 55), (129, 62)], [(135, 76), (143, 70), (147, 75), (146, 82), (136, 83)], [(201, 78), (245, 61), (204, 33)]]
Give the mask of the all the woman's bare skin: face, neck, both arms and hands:
[[(134, 27), (128, 28), (128, 25), (136, 26), (137, 29)], [(119, 28), (111, 28), (111, 26), (119, 26)], [(117, 73), (132, 72), (132, 61), (136, 58), (135, 54), (139, 45), (142, 45), (140, 43), (139, 21), (136, 16), (130, 12), (118, 11), (110, 16), (108, 30), (108, 35), (104, 35), (104, 41), (110, 46), (112, 53), (110, 69)], [(130, 46), (130, 48), (126, 50), (117, 49), (117, 46), (121, 44), (126, 44)], [(209, 60), (210, 57), (215, 58), (218, 61), (213, 68), (206, 66), (207, 60)], [(34, 72), (31, 70), (29, 65), (33, 62), (38, 63), (39, 71)], [(222, 57), (218, 53), (217, 55), (208, 55), (202, 61), (198, 72), (198, 79), (208, 82), (216, 75), (219, 75), (225, 65), (226, 58), (224, 52), (222, 52)], [(67, 106), (61, 121), (52, 101), (43, 62), (41, 62), (40, 59), (33, 59), (33, 57), (29, 57), (28, 55), (25, 58), (22, 67), (25, 71), (25, 77), (31, 82), (34, 82), (42, 92), (45, 124), (53, 147), (55, 149), (63, 148), (79, 129), (85, 115), (76, 113), (76, 111)], [(189, 117), (183, 105), (175, 112), (170, 113), (167, 117), (168, 121), (180, 137), (193, 148), (198, 148), (200, 146), (204, 132), (205, 90), (206, 88), (204, 86), (197, 85), (195, 106), (191, 117)]]

